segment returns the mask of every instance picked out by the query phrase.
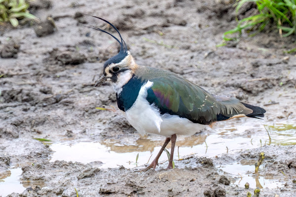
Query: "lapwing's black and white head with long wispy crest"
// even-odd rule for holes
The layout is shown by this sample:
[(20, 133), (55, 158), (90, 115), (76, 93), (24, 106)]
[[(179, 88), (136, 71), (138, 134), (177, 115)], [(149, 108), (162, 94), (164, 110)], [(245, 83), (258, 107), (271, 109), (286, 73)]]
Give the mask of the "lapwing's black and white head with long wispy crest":
[(122, 39), (121, 34), (117, 30), (115, 26), (113, 26), (110, 22), (108, 22), (105, 19), (102, 19), (100, 17), (95, 18), (101, 19), (111, 25), (115, 29), (115, 31), (119, 34), (120, 41), (117, 39), (114, 35), (111, 33), (108, 33), (104, 30), (101, 30), (96, 27), (91, 27), (92, 29), (107, 33), (111, 35), (119, 44), (120, 44), (120, 50), (117, 55), (114, 57), (111, 57), (109, 60), (107, 60), (104, 64), (104, 70), (103, 75), (100, 77), (99, 80), (96, 81), (95, 86), (99, 86), (105, 81), (111, 81), (113, 82), (114, 89), (116, 86), (118, 88), (121, 88), (125, 83), (128, 82), (129, 79), (131, 79), (135, 69), (137, 69), (138, 65), (135, 63), (134, 58), (130, 54), (130, 52), (127, 50), (127, 46), (125, 41)]

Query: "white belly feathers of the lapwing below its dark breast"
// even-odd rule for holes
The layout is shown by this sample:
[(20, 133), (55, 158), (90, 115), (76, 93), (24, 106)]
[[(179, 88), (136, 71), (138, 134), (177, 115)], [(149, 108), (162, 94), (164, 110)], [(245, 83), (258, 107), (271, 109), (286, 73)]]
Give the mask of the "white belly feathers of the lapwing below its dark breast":
[(173, 134), (193, 135), (205, 128), (205, 125), (192, 123), (177, 115), (161, 115), (157, 108), (147, 101), (147, 89), (153, 85), (148, 81), (141, 87), (139, 96), (133, 106), (126, 111), (126, 119), (141, 135), (154, 133), (171, 137)]

